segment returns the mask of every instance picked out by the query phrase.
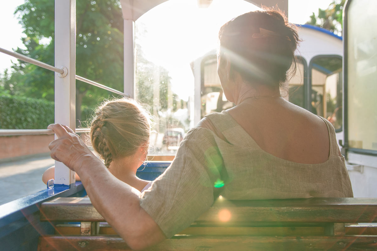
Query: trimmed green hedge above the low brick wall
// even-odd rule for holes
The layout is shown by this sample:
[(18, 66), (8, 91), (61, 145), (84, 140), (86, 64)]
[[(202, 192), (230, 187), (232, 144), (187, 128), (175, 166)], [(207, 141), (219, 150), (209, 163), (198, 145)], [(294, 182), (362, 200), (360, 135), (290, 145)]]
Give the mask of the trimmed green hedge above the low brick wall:
[(0, 95), (1, 129), (46, 129), (54, 123), (54, 102)]

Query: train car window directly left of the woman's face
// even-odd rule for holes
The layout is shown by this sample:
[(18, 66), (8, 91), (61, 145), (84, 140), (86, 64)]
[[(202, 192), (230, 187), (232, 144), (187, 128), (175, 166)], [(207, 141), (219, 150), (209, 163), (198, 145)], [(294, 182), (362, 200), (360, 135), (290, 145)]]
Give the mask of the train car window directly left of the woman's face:
[(209, 113), (227, 110), (233, 107), (222, 91), (219, 76), (217, 74), (216, 55), (206, 57), (202, 61), (201, 83), (201, 118)]

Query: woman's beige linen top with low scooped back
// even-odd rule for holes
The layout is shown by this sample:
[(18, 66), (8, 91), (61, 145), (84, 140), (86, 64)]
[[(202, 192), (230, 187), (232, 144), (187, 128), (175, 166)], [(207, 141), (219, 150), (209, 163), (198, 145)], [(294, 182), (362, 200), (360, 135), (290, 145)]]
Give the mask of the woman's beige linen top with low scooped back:
[[(217, 198), (282, 199), (353, 197), (335, 131), (328, 126), (329, 158), (300, 164), (263, 151), (226, 111), (207, 118), (227, 140), (206, 128), (191, 129), (166, 171), (141, 193), (140, 205), (169, 238), (195, 221)], [(224, 186), (215, 188), (215, 186)]]

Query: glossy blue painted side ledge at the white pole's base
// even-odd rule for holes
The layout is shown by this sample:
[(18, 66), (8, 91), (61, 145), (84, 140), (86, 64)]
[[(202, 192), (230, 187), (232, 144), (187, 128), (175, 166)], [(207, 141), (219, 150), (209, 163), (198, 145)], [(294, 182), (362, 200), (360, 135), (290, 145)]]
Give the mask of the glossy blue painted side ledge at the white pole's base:
[(69, 186), (54, 186), (51, 189), (0, 205), (0, 228), (39, 211), (39, 206), (44, 201), (57, 197), (69, 197), (79, 192), (86, 193), (81, 181), (77, 181), (75, 187), (71, 189)]

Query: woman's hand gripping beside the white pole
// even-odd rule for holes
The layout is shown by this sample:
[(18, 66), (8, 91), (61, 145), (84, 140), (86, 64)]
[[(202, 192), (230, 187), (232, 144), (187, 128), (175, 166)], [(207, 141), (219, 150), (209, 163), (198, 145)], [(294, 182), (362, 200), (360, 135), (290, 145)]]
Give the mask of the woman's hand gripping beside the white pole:
[(47, 127), (58, 136), (57, 140), (50, 143), (51, 158), (63, 162), (67, 167), (77, 172), (84, 160), (91, 161), (98, 158), (87, 148), (80, 136), (75, 134), (68, 126), (51, 124)]

